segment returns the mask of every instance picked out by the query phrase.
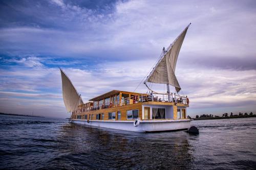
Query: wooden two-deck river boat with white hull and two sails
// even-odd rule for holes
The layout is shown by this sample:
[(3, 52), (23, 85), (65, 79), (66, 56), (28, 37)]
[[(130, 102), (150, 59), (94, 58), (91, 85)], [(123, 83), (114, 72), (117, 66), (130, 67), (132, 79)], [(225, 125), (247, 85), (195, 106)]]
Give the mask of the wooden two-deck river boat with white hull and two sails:
[[(84, 103), (69, 77), (60, 68), (62, 95), (69, 121), (87, 126), (133, 132), (162, 132), (190, 128), (187, 116), (189, 100), (179, 94), (181, 87), (175, 75), (176, 63), (188, 27), (163, 48), (156, 65), (145, 77), (148, 92), (112, 90)], [(143, 81), (142, 81), (143, 82)], [(153, 90), (151, 84), (166, 84), (166, 92)], [(170, 92), (171, 86), (175, 92)]]

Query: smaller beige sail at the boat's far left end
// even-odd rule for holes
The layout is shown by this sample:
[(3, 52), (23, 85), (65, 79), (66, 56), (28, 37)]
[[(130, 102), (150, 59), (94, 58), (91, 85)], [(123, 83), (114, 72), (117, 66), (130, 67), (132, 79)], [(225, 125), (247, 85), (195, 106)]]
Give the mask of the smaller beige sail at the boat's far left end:
[(65, 74), (65, 72), (62, 69), (60, 69), (60, 72), (61, 72), (61, 80), (62, 80), (63, 101), (67, 111), (73, 112), (75, 109), (77, 109), (79, 104), (83, 104), (83, 101), (80, 98), (80, 95), (76, 91), (75, 87), (73, 86), (72, 82), (70, 81), (68, 76)]

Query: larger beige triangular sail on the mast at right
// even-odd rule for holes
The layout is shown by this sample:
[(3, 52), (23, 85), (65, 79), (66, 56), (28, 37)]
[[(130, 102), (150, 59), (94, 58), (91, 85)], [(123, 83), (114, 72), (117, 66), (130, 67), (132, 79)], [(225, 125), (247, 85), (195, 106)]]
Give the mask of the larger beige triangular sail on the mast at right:
[(145, 82), (169, 84), (174, 86), (177, 92), (181, 90), (179, 82), (175, 76), (175, 68), (180, 48), (187, 33), (189, 25), (174, 40), (174, 42), (170, 44), (167, 51), (163, 52), (162, 57), (160, 58), (156, 66), (153, 68), (150, 75), (146, 78)]

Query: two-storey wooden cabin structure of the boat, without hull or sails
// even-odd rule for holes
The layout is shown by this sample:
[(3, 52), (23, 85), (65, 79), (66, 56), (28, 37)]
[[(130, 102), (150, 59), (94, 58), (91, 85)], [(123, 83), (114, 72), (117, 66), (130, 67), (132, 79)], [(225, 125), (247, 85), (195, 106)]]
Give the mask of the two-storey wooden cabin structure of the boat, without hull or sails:
[[(172, 102), (157, 94), (112, 90), (79, 105), (72, 119), (83, 120), (154, 120), (186, 119), (187, 98), (175, 95)], [(172, 94), (173, 95), (173, 94)]]

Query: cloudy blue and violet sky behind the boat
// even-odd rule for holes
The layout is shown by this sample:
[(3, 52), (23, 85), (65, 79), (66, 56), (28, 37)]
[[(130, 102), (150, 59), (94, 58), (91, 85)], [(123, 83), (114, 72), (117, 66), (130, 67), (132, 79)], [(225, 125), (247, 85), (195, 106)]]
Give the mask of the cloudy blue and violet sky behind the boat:
[(256, 1), (247, 0), (0, 1), (0, 112), (69, 117), (58, 66), (85, 102), (134, 91), (190, 22), (176, 66), (188, 115), (255, 113)]

